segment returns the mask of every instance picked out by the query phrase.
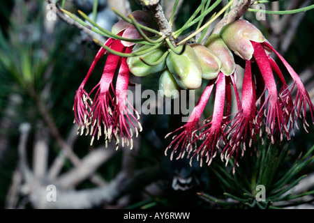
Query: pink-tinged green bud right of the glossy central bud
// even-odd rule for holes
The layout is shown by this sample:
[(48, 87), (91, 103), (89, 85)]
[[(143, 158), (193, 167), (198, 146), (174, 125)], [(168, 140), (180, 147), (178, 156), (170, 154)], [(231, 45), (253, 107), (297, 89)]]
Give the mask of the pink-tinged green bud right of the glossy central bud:
[(220, 71), (221, 62), (217, 56), (212, 54), (207, 47), (200, 44), (190, 45), (197, 56), (200, 66), (202, 67), (202, 77), (204, 79), (215, 79)]

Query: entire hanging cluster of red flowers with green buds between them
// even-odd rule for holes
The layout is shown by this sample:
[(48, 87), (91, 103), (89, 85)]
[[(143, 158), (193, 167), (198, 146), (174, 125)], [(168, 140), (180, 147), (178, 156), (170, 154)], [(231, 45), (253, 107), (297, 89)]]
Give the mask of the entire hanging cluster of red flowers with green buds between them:
[[(106, 142), (113, 137), (117, 144), (121, 142), (121, 146), (126, 144), (132, 148), (133, 130), (136, 135), (142, 130), (137, 112), (126, 99), (130, 72), (138, 77), (160, 73), (160, 93), (168, 98), (179, 97), (179, 89), (199, 89), (202, 82), (207, 82), (188, 122), (166, 136), (172, 135), (172, 141), (165, 149), (165, 153), (172, 150), (171, 158), (174, 153), (178, 153), (178, 159), (187, 153), (188, 157), (192, 154), (190, 162), (196, 156), (201, 165), (203, 160), (211, 164), (218, 149), (222, 148), (220, 157), (228, 162), (234, 156), (234, 164), (237, 164), (239, 154), (244, 155), (247, 147), (257, 144), (257, 137), (262, 138), (263, 130), (275, 144), (284, 137), (290, 139), (290, 132), (294, 133), (294, 126), (298, 128), (297, 120), (302, 116), (306, 129), (307, 109), (314, 120), (314, 107), (300, 77), (246, 20), (227, 24), (220, 33), (209, 36), (204, 45), (184, 43), (176, 46), (169, 38), (161, 34), (158, 38), (149, 31), (157, 29), (149, 13), (135, 11), (129, 18), (128, 22), (121, 20), (112, 27), (112, 33), (119, 38), (109, 38), (99, 49), (75, 94), (73, 110), (78, 132), (91, 134), (91, 144), (95, 137), (99, 139), (105, 134)], [(142, 30), (140, 26), (146, 28)], [(144, 44), (137, 41), (135, 45), (134, 40), (141, 38)], [(291, 86), (287, 85), (276, 61), (269, 56), (272, 52), (290, 74)], [(103, 75), (87, 93), (85, 85), (96, 63), (105, 54)], [(235, 56), (245, 63), (241, 97), (236, 84)], [(293, 100), (295, 87), (297, 96)], [(213, 91), (213, 114), (201, 125), (200, 117)], [(233, 97), (237, 102), (236, 114), (231, 114)]]

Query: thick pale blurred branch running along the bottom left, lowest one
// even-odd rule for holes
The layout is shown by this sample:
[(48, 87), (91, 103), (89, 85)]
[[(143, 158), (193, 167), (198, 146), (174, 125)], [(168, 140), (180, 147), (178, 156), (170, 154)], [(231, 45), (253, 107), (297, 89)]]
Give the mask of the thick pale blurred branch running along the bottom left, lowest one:
[(30, 196), (36, 208), (93, 208), (102, 203), (113, 203), (125, 194), (141, 190), (161, 177), (160, 167), (155, 166), (136, 171), (132, 176), (121, 171), (108, 185), (95, 189), (64, 191), (57, 185), (55, 202), (46, 201), (45, 185), (41, 185), (40, 188), (34, 187), (36, 190), (32, 190)]

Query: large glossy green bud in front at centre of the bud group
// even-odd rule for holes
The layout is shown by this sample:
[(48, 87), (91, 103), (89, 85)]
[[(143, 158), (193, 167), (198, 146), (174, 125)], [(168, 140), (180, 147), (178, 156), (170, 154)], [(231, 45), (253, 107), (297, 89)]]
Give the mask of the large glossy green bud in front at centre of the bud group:
[[(202, 68), (192, 47), (185, 47), (182, 54), (170, 52), (166, 60), (167, 68), (182, 89), (198, 89), (202, 84)], [(180, 45), (176, 49), (180, 51), (183, 48)]]

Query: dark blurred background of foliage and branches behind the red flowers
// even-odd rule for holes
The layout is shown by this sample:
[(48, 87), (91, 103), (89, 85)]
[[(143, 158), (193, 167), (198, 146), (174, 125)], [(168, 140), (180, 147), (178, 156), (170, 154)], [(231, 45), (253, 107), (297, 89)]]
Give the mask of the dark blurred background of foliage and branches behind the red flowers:
[[(170, 17), (174, 0), (161, 3)], [(174, 29), (199, 3), (179, 1)], [(264, 6), (287, 10), (313, 3), (275, 1)], [(47, 1), (0, 4), (0, 208), (314, 208), (313, 125), (309, 133), (297, 130), (292, 141), (257, 145), (259, 156), (247, 153), (235, 175), (219, 158), (210, 167), (190, 167), (188, 160), (165, 157), (165, 134), (180, 125), (181, 116), (142, 115), (143, 132), (132, 151), (116, 151), (114, 144), (105, 148), (101, 139), (90, 146), (89, 136), (76, 134), (72, 109), (75, 91), (99, 47)], [(90, 14), (93, 4), (71, 0), (64, 8)], [(137, 1), (98, 0), (96, 22), (108, 30), (119, 20), (113, 6), (125, 15), (141, 9)], [(296, 70), (314, 99), (314, 10), (265, 15), (264, 20), (257, 16), (244, 15)], [(105, 58), (98, 64), (88, 87), (98, 82)], [(142, 84), (143, 91), (157, 90), (158, 78), (132, 81)], [(198, 96), (201, 92), (196, 91)], [(255, 187), (265, 178), (269, 199), (258, 203)]]

